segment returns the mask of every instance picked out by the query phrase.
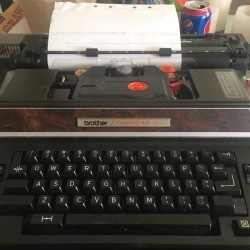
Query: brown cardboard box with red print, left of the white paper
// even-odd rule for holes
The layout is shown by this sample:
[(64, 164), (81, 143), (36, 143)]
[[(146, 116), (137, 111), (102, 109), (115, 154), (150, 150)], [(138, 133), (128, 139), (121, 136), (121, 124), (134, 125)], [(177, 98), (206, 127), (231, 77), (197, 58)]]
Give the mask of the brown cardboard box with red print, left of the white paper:
[(14, 33), (48, 33), (55, 2), (95, 3), (96, 0), (16, 0), (0, 16), (0, 33), (13, 33), (13, 31)]

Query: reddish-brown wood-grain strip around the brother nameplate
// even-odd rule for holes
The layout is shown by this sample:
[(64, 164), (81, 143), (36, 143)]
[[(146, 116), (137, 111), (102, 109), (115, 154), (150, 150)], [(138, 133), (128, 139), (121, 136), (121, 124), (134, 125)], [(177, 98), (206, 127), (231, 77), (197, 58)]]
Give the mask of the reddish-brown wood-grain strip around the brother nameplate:
[[(170, 128), (79, 128), (78, 118), (170, 118)], [(247, 109), (1, 109), (0, 132), (250, 132)]]

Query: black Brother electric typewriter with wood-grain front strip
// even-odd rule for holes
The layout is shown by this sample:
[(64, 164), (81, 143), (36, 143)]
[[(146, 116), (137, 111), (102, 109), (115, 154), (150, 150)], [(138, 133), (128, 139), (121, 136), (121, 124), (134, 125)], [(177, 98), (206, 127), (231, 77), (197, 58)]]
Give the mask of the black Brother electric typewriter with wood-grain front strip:
[(244, 37), (77, 72), (48, 69), (46, 35), (0, 40), (1, 249), (250, 248)]

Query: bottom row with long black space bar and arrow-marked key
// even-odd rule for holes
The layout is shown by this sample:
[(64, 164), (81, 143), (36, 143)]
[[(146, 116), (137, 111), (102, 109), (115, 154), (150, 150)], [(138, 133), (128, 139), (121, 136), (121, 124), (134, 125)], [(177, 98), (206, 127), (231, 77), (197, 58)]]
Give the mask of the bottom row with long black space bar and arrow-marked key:
[(211, 235), (208, 214), (33, 214), (24, 220), (25, 234)]

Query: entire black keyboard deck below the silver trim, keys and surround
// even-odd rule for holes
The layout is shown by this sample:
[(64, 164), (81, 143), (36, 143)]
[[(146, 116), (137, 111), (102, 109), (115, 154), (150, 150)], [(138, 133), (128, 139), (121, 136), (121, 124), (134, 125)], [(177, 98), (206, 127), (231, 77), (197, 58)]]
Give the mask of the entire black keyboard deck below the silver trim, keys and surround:
[(250, 247), (250, 142), (2, 139), (0, 249)]

